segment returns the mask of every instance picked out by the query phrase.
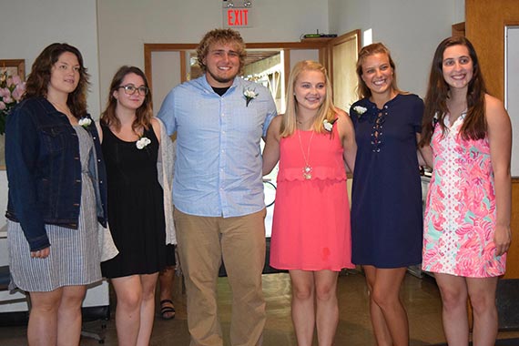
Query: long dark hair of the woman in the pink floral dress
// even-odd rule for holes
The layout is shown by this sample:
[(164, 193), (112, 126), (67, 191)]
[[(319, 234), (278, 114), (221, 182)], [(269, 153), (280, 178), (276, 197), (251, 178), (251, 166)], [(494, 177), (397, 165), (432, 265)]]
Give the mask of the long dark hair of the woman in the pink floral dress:
[[(423, 147), (431, 142), (434, 126), (439, 124), (443, 133), (447, 130), (443, 124), (443, 118), (449, 113), (447, 108), (447, 98), (449, 97), (449, 85), (443, 78), (443, 53), (450, 46), (466, 46), (469, 56), (473, 61), (473, 77), (467, 89), (467, 114), (460, 129), (463, 139), (482, 139), (486, 137), (486, 119), (484, 117), (484, 86), (481, 66), (477, 58), (473, 44), (463, 36), (452, 36), (445, 38), (436, 48), (432, 57), (431, 74), (427, 94), (425, 96), (425, 110), (422, 121), (422, 140), (420, 146)], [(434, 116), (436, 120), (434, 120)]]

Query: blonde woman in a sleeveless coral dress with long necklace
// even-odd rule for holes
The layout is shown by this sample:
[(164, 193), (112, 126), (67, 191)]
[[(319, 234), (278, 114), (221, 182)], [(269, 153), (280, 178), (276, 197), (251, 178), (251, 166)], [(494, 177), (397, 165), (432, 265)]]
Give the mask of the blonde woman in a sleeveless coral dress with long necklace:
[(290, 271), (298, 344), (311, 345), (317, 326), (319, 344), (331, 345), (339, 320), (337, 276), (354, 267), (345, 169), (354, 165), (353, 127), (333, 106), (330, 81), (317, 62), (294, 66), (287, 95), (287, 111), (272, 120), (263, 152), (263, 174), (280, 161), (270, 265)]

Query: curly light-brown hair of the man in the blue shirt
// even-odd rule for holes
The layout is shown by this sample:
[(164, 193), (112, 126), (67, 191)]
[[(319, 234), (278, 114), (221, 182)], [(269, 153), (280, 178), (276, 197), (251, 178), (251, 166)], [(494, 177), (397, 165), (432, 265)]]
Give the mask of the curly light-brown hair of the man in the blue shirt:
[(239, 32), (232, 29), (213, 29), (207, 33), (197, 48), (197, 60), (198, 65), (204, 71), (208, 70), (208, 66), (204, 64), (204, 59), (209, 54), (209, 46), (212, 44), (233, 44), (237, 49), (239, 55), (239, 74), (243, 73), (243, 67), (245, 66), (245, 58), (247, 57), (247, 51), (245, 50), (245, 42), (239, 35)]

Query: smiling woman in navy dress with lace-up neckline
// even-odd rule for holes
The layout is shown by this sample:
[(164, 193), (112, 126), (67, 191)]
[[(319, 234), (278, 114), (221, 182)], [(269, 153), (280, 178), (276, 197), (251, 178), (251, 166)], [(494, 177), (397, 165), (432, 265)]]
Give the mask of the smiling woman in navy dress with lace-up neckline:
[(351, 191), (352, 261), (370, 290), (377, 344), (408, 345), (399, 297), (407, 266), (422, 262), (422, 189), (417, 157), (423, 102), (396, 86), (395, 65), (381, 43), (357, 61), (359, 101), (351, 106), (357, 156)]

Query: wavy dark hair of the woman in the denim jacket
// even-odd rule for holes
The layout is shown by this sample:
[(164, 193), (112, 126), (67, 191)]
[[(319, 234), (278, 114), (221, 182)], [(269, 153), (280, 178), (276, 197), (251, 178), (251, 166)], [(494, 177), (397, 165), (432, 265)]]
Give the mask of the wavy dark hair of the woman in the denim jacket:
[(36, 57), (31, 68), (31, 73), (27, 77), (24, 98), (47, 96), (52, 67), (56, 64), (59, 56), (66, 52), (74, 54), (80, 66), (79, 83), (77, 84), (76, 89), (68, 94), (66, 105), (70, 108), (74, 117), (85, 117), (86, 92), (88, 91), (88, 78), (90, 76), (86, 72), (86, 67), (83, 65), (83, 56), (81, 56), (79, 50), (75, 46), (70, 46), (66, 43), (54, 43), (50, 46), (46, 46), (40, 55)]

